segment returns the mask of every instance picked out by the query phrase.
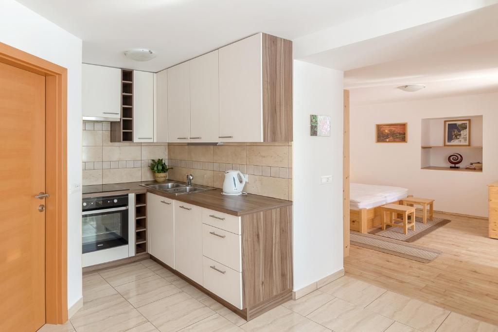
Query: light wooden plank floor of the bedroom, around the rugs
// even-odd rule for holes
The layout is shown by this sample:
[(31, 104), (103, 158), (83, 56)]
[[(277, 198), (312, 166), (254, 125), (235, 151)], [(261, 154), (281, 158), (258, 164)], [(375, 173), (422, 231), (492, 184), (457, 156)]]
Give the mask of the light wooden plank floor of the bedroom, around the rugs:
[(498, 240), (488, 221), (446, 214), (450, 219), (414, 244), (443, 251), (424, 264), (351, 246), (346, 274), (396, 293), (498, 325)]

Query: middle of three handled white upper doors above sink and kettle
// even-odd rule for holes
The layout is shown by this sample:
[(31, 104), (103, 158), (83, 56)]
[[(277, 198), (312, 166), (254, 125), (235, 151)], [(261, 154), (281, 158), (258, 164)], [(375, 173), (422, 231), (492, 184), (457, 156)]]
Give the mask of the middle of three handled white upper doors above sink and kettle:
[(219, 141), (218, 53), (190, 60), (190, 141)]

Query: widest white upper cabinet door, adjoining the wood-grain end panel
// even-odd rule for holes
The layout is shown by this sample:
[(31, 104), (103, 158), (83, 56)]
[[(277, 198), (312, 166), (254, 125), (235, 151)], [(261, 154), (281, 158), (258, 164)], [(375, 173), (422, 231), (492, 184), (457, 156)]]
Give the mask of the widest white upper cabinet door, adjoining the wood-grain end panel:
[(220, 142), (262, 142), (262, 35), (220, 48)]

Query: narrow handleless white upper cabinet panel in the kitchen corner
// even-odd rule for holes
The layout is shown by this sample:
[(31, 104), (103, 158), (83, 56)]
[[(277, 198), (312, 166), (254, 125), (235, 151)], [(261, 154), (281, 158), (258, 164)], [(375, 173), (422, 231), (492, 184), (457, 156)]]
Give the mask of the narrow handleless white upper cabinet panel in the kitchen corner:
[(168, 141), (168, 71), (155, 74), (154, 142)]

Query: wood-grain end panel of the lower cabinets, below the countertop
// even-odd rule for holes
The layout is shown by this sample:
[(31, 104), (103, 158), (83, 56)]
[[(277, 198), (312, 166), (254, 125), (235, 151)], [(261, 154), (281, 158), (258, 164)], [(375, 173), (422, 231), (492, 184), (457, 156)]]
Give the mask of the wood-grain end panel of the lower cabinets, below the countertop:
[(292, 209), (242, 217), (244, 308), (292, 288)]

